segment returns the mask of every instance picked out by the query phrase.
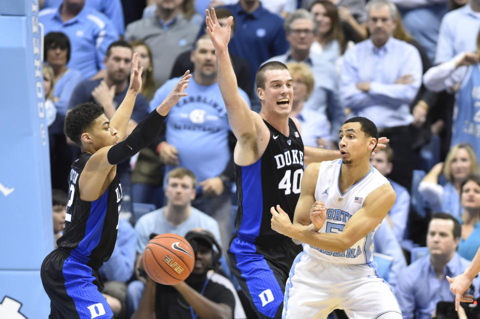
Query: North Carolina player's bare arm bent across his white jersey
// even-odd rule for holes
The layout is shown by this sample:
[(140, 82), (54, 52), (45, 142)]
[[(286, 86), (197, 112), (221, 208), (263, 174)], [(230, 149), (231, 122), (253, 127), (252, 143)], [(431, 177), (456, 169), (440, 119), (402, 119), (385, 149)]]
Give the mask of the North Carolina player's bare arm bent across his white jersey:
[(277, 228), (278, 230), (274, 230), (319, 249), (344, 252), (381, 223), (395, 203), (395, 198), (395, 192), (389, 184), (378, 187), (365, 198), (363, 207), (353, 214), (339, 234), (314, 233), (304, 227), (286, 225), (283, 218), (286, 213), (279, 207), (277, 211), (272, 208), (272, 220), (276, 218), (283, 224), (282, 227)]

